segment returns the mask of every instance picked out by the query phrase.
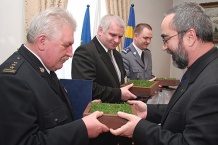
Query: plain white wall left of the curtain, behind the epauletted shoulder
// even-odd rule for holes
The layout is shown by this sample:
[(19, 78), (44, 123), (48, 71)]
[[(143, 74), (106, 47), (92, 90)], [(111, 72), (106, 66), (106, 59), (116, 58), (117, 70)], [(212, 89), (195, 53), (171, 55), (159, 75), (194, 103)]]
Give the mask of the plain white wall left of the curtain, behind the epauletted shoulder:
[(0, 1), (0, 64), (24, 41), (23, 0)]

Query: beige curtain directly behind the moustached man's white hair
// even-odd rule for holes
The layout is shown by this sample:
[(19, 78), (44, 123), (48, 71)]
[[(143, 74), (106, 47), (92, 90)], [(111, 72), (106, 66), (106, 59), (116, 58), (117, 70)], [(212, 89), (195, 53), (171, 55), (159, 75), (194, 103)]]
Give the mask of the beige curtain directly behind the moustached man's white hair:
[(67, 8), (68, 0), (25, 0), (25, 30), (29, 27), (32, 18), (49, 7)]

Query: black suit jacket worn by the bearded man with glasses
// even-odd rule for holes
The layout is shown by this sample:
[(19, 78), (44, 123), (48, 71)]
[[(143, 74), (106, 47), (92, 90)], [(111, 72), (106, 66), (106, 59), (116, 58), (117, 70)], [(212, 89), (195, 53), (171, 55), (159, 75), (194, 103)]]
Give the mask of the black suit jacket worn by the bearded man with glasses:
[(148, 105), (147, 120), (141, 120), (134, 131), (133, 138), (137, 144), (217, 144), (217, 48), (200, 57), (188, 68), (185, 76), (185, 81), (172, 96), (164, 114), (161, 113), (164, 106)]

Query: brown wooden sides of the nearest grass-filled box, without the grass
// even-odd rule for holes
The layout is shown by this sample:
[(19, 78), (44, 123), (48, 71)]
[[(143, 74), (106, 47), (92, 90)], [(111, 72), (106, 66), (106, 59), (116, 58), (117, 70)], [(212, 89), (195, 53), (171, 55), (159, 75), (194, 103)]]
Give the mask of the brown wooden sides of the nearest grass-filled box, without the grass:
[[(90, 114), (90, 110), (92, 107), (93, 103), (89, 103), (84, 111), (83, 116), (87, 116)], [(109, 104), (109, 103), (102, 103), (102, 104)], [(111, 107), (113, 107), (113, 109), (116, 108), (117, 104), (109, 104)], [(132, 105), (129, 105), (130, 109), (132, 110), (131, 113), (136, 115), (135, 112), (135, 108)], [(108, 107), (108, 109), (111, 109), (110, 107)], [(97, 109), (98, 111), (102, 111), (102, 112), (106, 112), (104, 110), (102, 110), (101, 108)], [(117, 110), (121, 111), (121, 110)], [(124, 111), (122, 111), (124, 112)], [(126, 119), (123, 119), (121, 117), (119, 117), (117, 114), (103, 114), (103, 116), (99, 117), (98, 120), (105, 124), (108, 128), (113, 128), (113, 129), (117, 129), (119, 127), (121, 127), (122, 125), (127, 123)]]

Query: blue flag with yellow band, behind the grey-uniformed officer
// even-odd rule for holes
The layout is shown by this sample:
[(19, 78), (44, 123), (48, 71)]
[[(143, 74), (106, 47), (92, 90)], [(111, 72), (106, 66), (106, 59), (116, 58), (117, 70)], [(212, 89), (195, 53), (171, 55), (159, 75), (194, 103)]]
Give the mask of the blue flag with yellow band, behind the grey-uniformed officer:
[(135, 28), (135, 12), (134, 5), (132, 4), (129, 11), (129, 20), (126, 28), (125, 40), (124, 40), (124, 48), (129, 46), (132, 43), (133, 33)]

